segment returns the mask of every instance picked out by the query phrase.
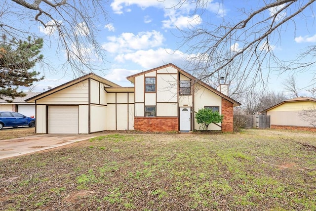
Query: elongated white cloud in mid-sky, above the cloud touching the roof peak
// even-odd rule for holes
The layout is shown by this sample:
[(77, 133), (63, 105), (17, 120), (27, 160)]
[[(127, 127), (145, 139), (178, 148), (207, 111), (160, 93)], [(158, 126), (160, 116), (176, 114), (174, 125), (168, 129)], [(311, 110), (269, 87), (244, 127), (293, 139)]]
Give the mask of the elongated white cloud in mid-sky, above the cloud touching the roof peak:
[(122, 33), (119, 37), (110, 36), (110, 42), (102, 44), (103, 49), (111, 53), (130, 52), (131, 50), (149, 49), (162, 45), (163, 35), (155, 30), (151, 32)]

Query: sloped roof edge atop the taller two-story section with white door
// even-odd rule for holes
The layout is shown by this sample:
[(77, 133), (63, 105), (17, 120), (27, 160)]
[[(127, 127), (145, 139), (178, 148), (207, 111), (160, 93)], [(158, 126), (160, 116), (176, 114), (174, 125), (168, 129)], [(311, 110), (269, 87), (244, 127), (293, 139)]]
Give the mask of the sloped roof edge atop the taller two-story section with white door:
[(141, 72), (141, 73), (137, 73), (137, 74), (134, 74), (132, 76), (128, 76), (127, 77), (127, 80), (132, 82), (132, 83), (135, 83), (135, 77), (136, 76), (140, 76), (140, 75), (143, 75), (143, 74), (146, 74), (146, 73), (149, 73), (149, 72), (152, 72), (152, 71), (156, 71), (156, 70), (159, 70), (161, 68), (166, 68), (166, 67), (174, 67), (175, 69), (178, 69), (178, 71), (183, 74), (184, 76), (190, 78), (191, 80), (193, 80), (195, 83), (197, 84), (200, 84), (202, 86), (204, 86), (205, 88), (209, 89), (210, 91), (214, 92), (215, 94), (223, 97), (224, 99), (232, 102), (234, 104), (234, 106), (240, 106), (241, 103), (237, 102), (236, 100), (230, 98), (229, 96), (223, 94), (222, 92), (216, 90), (215, 88), (213, 88), (212, 86), (208, 85), (208, 84), (205, 84), (204, 82), (200, 81), (199, 79), (197, 79), (196, 77), (192, 76), (191, 74), (187, 73), (186, 71), (182, 70), (181, 68), (177, 67), (176, 65), (172, 64), (172, 63), (169, 63), (169, 64), (166, 64), (166, 65), (162, 65), (160, 67), (156, 67), (154, 69), (150, 69), (150, 70), (147, 70), (147, 71), (144, 71), (144, 72)]

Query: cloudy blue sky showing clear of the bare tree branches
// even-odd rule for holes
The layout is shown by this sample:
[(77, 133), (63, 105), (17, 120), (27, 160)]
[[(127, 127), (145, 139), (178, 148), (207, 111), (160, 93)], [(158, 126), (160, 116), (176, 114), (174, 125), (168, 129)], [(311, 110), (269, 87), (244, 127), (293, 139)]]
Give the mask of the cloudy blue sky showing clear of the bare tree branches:
[[(122, 86), (132, 86), (126, 77), (151, 68), (174, 63), (183, 68), (185, 66), (186, 46), (180, 47), (182, 41), (177, 28), (188, 30), (191, 26), (205, 26), (206, 23), (219, 24), (225, 20), (236, 21), (243, 16), (238, 9), (256, 9), (263, 5), (262, 0), (213, 0), (209, 1), (203, 14), (194, 14), (195, 4), (185, 3), (178, 9), (173, 9), (178, 1), (173, 0), (114, 0), (110, 1), (108, 8), (108, 22), (97, 25), (99, 30), (98, 40), (107, 51), (106, 60), (100, 62), (102, 71), (97, 75)], [(315, 10), (315, 5), (314, 5)], [(273, 12), (273, 11), (271, 11)], [(316, 44), (316, 18), (313, 10), (305, 11), (305, 16), (298, 16), (293, 22), (287, 24), (280, 33), (281, 38), (275, 37), (272, 43), (277, 56), (282, 59), (292, 59), (303, 48)], [(283, 14), (286, 16), (286, 13)], [(57, 42), (53, 35), (47, 35), (42, 27), (37, 26), (39, 35), (45, 36), (42, 53), (45, 62), (52, 64), (55, 71), (47, 71), (37, 67), (37, 71), (44, 73), (45, 79), (37, 83), (35, 91), (42, 91), (47, 86), (55, 87), (70, 80), (75, 76), (60, 70), (64, 61), (62, 53), (56, 55)], [(241, 43), (235, 43), (233, 48), (238, 48)], [(180, 47), (180, 48), (179, 48)], [(86, 70), (89, 72), (89, 70)], [(303, 88), (315, 83), (314, 69), (295, 75), (298, 86)], [(291, 73), (293, 74), (293, 73)], [(282, 90), (282, 82), (288, 74), (279, 76), (273, 73), (269, 79), (270, 89)], [(304, 94), (304, 91), (302, 91)]]

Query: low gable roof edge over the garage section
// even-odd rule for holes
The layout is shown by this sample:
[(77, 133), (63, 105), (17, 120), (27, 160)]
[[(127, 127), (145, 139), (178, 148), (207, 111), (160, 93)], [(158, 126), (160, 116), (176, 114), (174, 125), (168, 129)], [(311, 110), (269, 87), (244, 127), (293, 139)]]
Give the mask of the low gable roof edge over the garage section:
[(106, 80), (106, 79), (104, 79), (104, 78), (102, 78), (100, 76), (95, 75), (94, 73), (89, 73), (89, 74), (81, 76), (81, 77), (79, 77), (77, 79), (74, 79), (74, 80), (72, 80), (70, 82), (67, 82), (65, 84), (61, 84), (61, 85), (56, 86), (56, 87), (54, 87), (52, 89), (49, 89), (49, 90), (47, 90), (45, 92), (42, 92), (41, 94), (38, 94), (38, 95), (33, 96), (33, 97), (30, 97), (30, 98), (26, 99), (25, 101), (26, 102), (33, 102), (33, 101), (35, 101), (37, 99), (40, 99), (42, 97), (45, 97), (45, 96), (50, 95), (52, 93), (55, 93), (55, 92), (57, 92), (57, 91), (59, 91), (61, 89), (67, 88), (67, 87), (69, 87), (71, 85), (78, 84), (78, 83), (80, 83), (80, 82), (82, 82), (84, 80), (87, 80), (87, 79), (94, 79), (94, 80), (96, 80), (98, 82), (101, 82), (103, 84), (107, 84), (110, 87), (113, 87), (113, 86), (121, 87), (120, 85), (115, 84), (113, 82), (110, 82), (110, 81), (108, 81), (108, 80)]

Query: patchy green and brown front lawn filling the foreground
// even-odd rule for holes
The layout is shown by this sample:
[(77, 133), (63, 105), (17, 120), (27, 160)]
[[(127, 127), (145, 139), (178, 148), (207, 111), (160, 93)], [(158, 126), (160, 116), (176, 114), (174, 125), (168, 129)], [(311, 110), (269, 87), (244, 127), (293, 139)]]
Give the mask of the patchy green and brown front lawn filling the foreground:
[(109, 134), (0, 161), (0, 210), (316, 210), (316, 134)]

